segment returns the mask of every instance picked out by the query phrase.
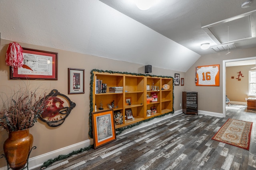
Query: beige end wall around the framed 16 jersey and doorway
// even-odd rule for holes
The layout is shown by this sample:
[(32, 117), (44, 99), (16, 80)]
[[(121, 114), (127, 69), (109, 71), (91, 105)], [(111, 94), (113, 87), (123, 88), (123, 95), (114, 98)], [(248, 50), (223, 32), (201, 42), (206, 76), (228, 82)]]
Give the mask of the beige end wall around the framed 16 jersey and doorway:
[[(231, 50), (228, 55), (226, 51), (221, 53), (204, 55), (194, 63), (186, 72), (186, 91), (198, 92), (198, 109), (223, 114), (223, 61), (241, 59), (256, 56), (256, 48)], [(196, 86), (196, 66), (220, 64), (220, 86)], [(235, 75), (234, 75), (235, 76)]]

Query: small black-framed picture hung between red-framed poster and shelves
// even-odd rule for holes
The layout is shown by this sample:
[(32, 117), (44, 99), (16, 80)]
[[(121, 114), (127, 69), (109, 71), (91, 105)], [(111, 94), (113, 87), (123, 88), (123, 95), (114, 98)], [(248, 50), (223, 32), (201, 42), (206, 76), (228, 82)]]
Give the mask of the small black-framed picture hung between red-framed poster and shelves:
[(84, 93), (84, 69), (68, 68), (68, 94)]

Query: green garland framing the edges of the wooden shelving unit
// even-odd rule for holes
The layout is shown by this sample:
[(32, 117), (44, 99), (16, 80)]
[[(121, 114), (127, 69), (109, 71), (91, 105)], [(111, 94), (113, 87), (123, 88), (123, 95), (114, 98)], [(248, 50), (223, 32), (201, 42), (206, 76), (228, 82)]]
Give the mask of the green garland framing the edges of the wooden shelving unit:
[[(135, 75), (135, 76), (151, 76), (151, 77), (162, 77), (162, 78), (172, 78), (172, 76), (156, 76), (156, 75), (150, 75), (150, 74), (138, 74), (138, 73), (131, 73), (131, 72), (118, 72), (118, 71), (109, 71), (109, 70), (98, 70), (98, 69), (93, 69), (91, 70), (91, 80), (90, 80), (90, 113), (89, 113), (89, 124), (90, 124), (90, 129), (89, 129), (89, 136), (90, 138), (93, 138), (93, 135), (92, 135), (92, 112), (93, 112), (93, 109), (94, 109), (94, 106), (93, 106), (93, 81), (94, 81), (94, 72), (107, 72), (107, 73), (111, 73), (111, 74), (114, 74), (114, 73), (119, 73), (119, 74), (130, 74), (130, 75)], [(173, 90), (174, 90), (174, 86), (172, 86), (172, 93), (173, 93)], [(155, 117), (151, 117), (149, 119), (145, 119), (143, 121), (140, 121), (140, 122), (137, 122), (137, 123), (134, 123), (132, 125), (128, 125), (126, 127), (120, 127), (118, 129), (116, 129), (116, 131), (118, 131), (116, 133), (116, 135), (119, 135), (122, 133), (122, 131), (124, 131), (125, 129), (128, 129), (128, 128), (132, 128), (134, 126), (137, 126), (137, 125), (140, 125), (141, 123), (143, 122), (147, 122), (147, 121), (150, 121), (154, 118), (157, 118), (157, 117), (162, 117), (164, 115), (167, 115), (167, 114), (170, 114), (170, 113), (174, 113), (174, 108), (173, 108), (173, 101), (174, 101), (174, 95), (172, 95), (172, 110), (173, 111), (170, 111), (168, 113), (164, 113), (162, 115), (159, 115), (159, 116), (155, 116)]]

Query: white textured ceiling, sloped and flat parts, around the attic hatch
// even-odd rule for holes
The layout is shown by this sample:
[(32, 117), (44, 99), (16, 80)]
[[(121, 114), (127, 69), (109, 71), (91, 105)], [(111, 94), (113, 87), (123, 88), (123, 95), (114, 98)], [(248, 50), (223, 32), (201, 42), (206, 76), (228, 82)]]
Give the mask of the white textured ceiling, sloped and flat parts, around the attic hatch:
[(235, 41), (236, 48), (256, 47), (256, 6), (242, 9), (242, 2), (158, 0), (142, 11), (132, 0), (0, 0), (0, 33), (1, 39), (186, 72), (201, 55), (216, 53), (200, 44), (223, 43), (229, 18), (243, 14), (241, 22), (251, 24), (238, 29), (249, 38)]

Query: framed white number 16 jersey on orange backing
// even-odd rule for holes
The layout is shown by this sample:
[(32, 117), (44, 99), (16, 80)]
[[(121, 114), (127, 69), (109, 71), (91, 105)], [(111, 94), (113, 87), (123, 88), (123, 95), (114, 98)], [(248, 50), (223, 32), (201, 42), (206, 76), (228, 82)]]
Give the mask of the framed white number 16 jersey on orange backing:
[(220, 64), (197, 66), (196, 86), (220, 86)]

